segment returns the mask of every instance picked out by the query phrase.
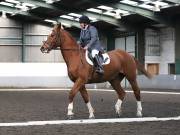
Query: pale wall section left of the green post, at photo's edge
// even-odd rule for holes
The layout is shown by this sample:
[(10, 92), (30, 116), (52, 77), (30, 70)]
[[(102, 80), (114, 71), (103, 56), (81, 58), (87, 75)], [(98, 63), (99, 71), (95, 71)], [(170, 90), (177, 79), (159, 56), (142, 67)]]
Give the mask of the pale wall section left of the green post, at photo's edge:
[(0, 62), (21, 62), (22, 24), (0, 17)]

